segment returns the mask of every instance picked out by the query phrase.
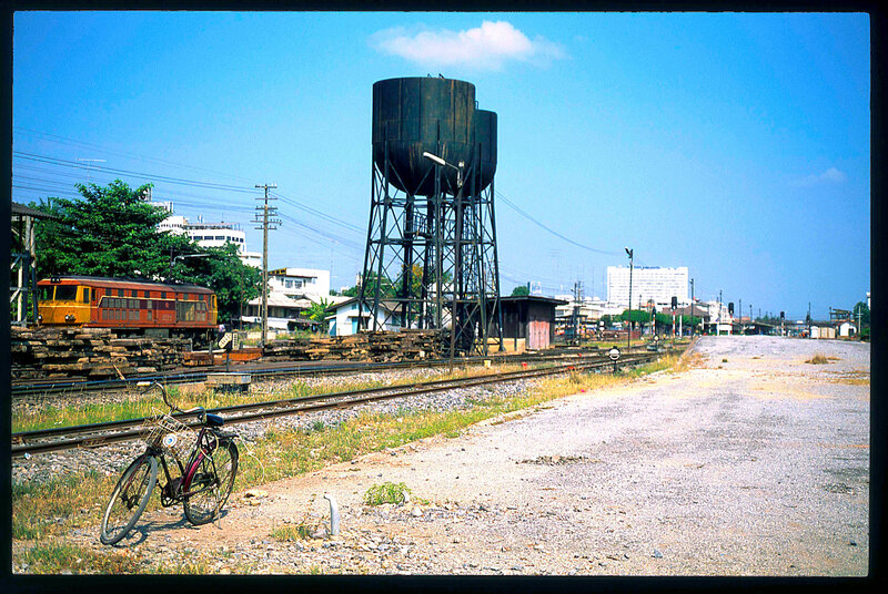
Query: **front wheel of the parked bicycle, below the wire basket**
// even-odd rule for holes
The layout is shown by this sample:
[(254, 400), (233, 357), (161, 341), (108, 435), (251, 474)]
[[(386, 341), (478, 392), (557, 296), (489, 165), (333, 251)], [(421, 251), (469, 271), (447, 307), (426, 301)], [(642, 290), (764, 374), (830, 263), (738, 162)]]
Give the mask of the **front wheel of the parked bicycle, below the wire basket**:
[(102, 516), (99, 534), (102, 544), (114, 544), (132, 530), (148, 505), (157, 482), (158, 459), (153, 455), (137, 458), (123, 471)]

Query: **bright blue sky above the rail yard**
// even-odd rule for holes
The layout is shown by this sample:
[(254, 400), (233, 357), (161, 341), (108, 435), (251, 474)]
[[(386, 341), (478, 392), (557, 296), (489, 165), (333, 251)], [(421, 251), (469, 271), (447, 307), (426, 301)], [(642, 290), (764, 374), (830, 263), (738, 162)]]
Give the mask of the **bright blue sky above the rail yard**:
[(12, 199), (154, 184), (253, 223), (270, 269), (355, 284), (373, 83), (444, 75), (497, 113), (501, 285), (606, 298), (606, 267), (687, 266), (695, 296), (826, 319), (870, 289), (861, 13), (17, 12)]

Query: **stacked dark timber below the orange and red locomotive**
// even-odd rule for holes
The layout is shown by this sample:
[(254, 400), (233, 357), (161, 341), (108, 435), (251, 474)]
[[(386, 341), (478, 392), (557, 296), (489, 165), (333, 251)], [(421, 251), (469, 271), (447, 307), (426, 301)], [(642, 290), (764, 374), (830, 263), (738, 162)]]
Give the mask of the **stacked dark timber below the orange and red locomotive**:
[(108, 328), (11, 328), (12, 379), (103, 379), (182, 365), (189, 341), (118, 338)]

